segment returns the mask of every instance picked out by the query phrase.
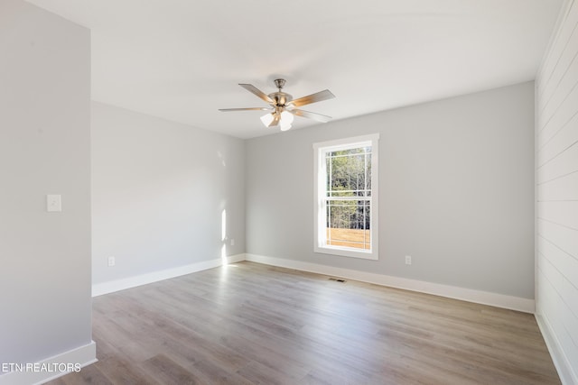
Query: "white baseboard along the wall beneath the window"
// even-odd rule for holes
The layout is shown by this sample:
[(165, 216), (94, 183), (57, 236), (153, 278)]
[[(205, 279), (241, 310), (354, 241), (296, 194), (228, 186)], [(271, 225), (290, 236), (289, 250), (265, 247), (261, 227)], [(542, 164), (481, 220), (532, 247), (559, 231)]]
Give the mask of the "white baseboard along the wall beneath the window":
[(442, 285), (439, 283), (425, 282), (422, 280), (409, 280), (406, 278), (393, 277), (371, 272), (341, 269), (332, 266), (320, 265), (316, 263), (285, 260), (282, 258), (266, 257), (264, 255), (245, 254), (247, 261), (265, 263), (294, 270), (315, 272), (323, 275), (347, 278), (349, 280), (360, 280), (377, 285), (388, 286), (396, 289), (407, 289), (421, 293), (433, 294), (436, 296), (461, 299), (493, 307), (503, 307), (511, 310), (534, 313), (534, 299), (518, 298), (503, 294), (490, 293), (488, 291), (458, 288), (455, 286)]

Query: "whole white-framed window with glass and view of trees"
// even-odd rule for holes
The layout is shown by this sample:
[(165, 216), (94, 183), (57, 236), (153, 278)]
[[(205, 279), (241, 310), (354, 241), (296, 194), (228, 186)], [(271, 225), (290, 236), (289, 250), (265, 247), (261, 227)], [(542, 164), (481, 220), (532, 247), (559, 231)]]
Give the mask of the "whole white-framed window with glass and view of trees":
[(378, 139), (313, 144), (315, 252), (378, 259)]

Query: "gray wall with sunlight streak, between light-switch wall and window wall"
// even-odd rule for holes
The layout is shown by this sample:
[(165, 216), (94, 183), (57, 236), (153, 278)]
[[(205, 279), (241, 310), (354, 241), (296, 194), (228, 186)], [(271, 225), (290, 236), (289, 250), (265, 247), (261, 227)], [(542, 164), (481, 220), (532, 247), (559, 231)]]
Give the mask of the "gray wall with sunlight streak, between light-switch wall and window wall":
[[(92, 104), (93, 284), (245, 252), (240, 139)], [(117, 264), (107, 266), (107, 257)]]

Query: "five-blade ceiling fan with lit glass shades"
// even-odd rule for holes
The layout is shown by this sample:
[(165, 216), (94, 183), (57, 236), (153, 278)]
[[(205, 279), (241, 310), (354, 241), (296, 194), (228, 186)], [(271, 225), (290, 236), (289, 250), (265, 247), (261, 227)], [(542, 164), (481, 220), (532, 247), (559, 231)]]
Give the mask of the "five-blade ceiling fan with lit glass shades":
[(294, 115), (306, 117), (309, 119), (316, 120), (317, 122), (326, 123), (331, 120), (331, 116), (321, 115), (312, 113), (310, 111), (305, 111), (298, 109), (302, 105), (310, 105), (312, 103), (321, 102), (322, 100), (332, 99), (335, 97), (331, 94), (329, 89), (324, 89), (315, 94), (299, 97), (294, 99), (293, 96), (284, 93), (283, 87), (285, 85), (285, 79), (277, 78), (275, 79), (275, 87), (279, 90), (266, 95), (263, 91), (257, 87), (250, 84), (239, 84), (239, 86), (247, 89), (247, 91), (255, 94), (261, 99), (268, 103), (269, 107), (247, 107), (247, 108), (219, 108), (219, 111), (230, 112), (230, 111), (269, 111), (268, 114), (261, 116), (261, 122), (265, 124), (266, 127), (273, 127), (279, 125), (281, 131), (287, 131), (291, 128), (293, 123)]

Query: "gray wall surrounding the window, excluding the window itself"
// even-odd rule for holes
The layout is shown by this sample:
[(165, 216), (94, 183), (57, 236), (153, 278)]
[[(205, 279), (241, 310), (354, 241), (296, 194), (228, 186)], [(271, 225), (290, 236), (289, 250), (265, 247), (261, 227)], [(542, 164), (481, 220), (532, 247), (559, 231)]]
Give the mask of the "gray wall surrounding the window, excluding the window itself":
[[(533, 128), (528, 82), (249, 140), (247, 253), (534, 298)], [(367, 133), (379, 261), (314, 253), (312, 143)]]

